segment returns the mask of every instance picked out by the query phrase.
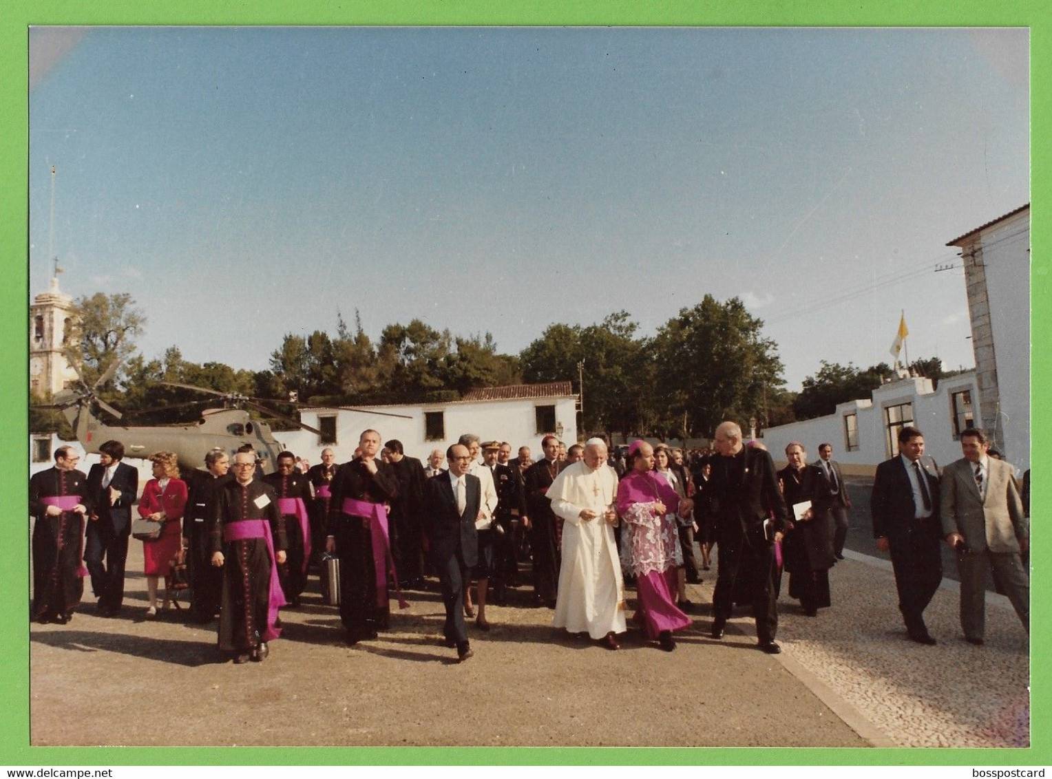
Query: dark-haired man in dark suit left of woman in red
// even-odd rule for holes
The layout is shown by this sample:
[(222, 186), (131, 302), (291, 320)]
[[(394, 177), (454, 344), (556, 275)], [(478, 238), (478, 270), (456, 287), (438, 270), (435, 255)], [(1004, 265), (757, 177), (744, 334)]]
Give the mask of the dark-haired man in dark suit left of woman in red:
[(124, 601), (132, 504), (139, 490), (139, 471), (123, 459), (124, 445), (107, 440), (99, 447), (99, 464), (87, 474), (94, 508), (85, 532), (84, 562), (92, 574), (92, 591), (99, 599), (99, 614), (104, 617), (117, 616)]

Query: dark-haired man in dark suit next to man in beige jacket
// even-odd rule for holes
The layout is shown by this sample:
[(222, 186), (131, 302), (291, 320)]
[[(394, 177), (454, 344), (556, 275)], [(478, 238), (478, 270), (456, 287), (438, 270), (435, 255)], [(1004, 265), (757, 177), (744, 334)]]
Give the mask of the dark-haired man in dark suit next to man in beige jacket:
[(929, 645), (935, 639), (924, 623), (924, 610), (943, 580), (938, 501), (938, 470), (924, 456), (924, 433), (905, 427), (898, 432), (898, 456), (876, 467), (870, 513), (877, 549), (891, 553), (909, 638)]

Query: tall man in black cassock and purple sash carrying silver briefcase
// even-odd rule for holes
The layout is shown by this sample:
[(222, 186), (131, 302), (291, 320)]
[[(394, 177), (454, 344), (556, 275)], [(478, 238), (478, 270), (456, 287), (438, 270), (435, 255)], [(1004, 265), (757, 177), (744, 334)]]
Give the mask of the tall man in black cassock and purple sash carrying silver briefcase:
[(384, 503), (398, 496), (390, 466), (377, 458), (380, 433), (366, 430), (361, 454), (344, 463), (332, 479), (325, 551), (340, 557), (340, 619), (347, 643), (377, 637), (386, 630), (390, 546)]

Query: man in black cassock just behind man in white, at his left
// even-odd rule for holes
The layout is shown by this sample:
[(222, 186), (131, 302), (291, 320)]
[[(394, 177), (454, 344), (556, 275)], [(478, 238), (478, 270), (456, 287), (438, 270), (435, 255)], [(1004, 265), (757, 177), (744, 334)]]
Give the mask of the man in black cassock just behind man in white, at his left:
[(526, 497), (526, 511), (529, 518), (530, 553), (533, 557), (533, 590), (537, 597), (549, 609), (555, 608), (555, 595), (559, 592), (559, 540), (555, 514), (551, 510), (551, 500), (547, 497), (548, 488), (555, 480), (560, 471), (559, 438), (546, 435), (541, 442), (544, 459), (538, 460), (526, 471), (523, 492)]

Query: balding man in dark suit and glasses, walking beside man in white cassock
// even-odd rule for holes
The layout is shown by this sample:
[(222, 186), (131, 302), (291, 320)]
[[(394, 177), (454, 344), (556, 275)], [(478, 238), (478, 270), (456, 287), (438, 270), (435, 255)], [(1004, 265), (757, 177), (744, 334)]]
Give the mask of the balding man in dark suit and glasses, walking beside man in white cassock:
[(456, 647), (458, 659), (464, 662), (474, 654), (467, 639), (463, 603), (464, 588), (478, 561), (474, 522), (480, 516), (482, 486), (478, 476), (467, 472), (471, 453), (466, 446), (453, 444), (446, 450), (446, 460), (449, 472), (427, 480), (427, 536), (446, 609), (445, 644)]

